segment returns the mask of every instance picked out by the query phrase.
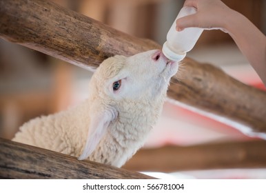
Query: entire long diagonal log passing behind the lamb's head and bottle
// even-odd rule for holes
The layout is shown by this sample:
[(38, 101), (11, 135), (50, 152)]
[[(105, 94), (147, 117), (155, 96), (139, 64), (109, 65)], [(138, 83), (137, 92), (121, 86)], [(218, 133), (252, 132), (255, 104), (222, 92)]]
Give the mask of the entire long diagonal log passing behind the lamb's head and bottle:
[[(0, 36), (90, 70), (114, 54), (161, 48), (43, 0), (0, 0)], [(219, 121), (247, 134), (266, 132), (266, 92), (232, 79), (213, 65), (189, 58), (182, 63), (168, 96), (225, 117)]]

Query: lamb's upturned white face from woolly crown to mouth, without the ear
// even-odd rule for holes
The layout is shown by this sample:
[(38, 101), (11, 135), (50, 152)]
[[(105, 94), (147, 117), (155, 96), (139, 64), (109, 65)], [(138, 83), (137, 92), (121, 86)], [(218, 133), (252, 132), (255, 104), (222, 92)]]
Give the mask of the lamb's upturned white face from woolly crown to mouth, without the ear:
[(167, 61), (161, 50), (150, 50), (132, 57), (116, 55), (101, 63), (92, 77), (92, 87), (103, 99), (152, 100), (167, 90), (178, 63)]

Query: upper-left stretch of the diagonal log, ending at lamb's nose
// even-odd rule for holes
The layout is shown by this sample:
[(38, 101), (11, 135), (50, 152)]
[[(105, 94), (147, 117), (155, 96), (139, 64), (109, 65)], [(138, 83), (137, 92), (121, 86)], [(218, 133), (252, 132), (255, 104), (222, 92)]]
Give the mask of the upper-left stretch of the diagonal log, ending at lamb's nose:
[(114, 54), (160, 48), (52, 1), (0, 1), (1, 37), (82, 68), (97, 68)]

